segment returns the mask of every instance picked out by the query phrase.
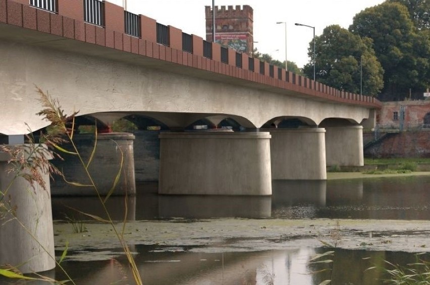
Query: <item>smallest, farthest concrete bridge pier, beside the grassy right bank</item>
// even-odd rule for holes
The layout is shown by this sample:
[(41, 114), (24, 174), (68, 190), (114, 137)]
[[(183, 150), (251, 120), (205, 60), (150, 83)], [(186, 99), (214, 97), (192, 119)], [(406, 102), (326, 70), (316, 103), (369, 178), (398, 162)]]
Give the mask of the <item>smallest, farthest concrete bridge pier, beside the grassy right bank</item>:
[(327, 166), (363, 166), (363, 127), (326, 127)]

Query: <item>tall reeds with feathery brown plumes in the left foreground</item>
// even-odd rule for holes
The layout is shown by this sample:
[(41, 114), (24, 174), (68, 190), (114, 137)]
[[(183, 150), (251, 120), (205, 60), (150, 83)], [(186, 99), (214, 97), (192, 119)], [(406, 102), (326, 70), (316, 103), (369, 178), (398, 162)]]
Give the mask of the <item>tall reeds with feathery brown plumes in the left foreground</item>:
[[(50, 125), (46, 128), (46, 132), (40, 134), (39, 143), (35, 144), (34, 138), (31, 136), (28, 136), (29, 144), (27, 146), (21, 146), (21, 147), (8, 147), (8, 146), (0, 146), (0, 151), (3, 151), (11, 156), (11, 159), (9, 161), (11, 165), (11, 172), (15, 173), (15, 178), (17, 177), (23, 177), (26, 179), (29, 183), (32, 185), (34, 183), (39, 184), (42, 188), (45, 188), (46, 185), (44, 185), (44, 180), (42, 179), (41, 173), (49, 173), (49, 175), (52, 174), (58, 174), (63, 175), (58, 169), (53, 167), (49, 161), (48, 157), (58, 157), (61, 159), (62, 153), (67, 153), (73, 156), (76, 156), (79, 160), (79, 162), (82, 165), (82, 168), (85, 172), (85, 175), (87, 176), (89, 180), (89, 184), (81, 184), (80, 182), (71, 181), (68, 182), (71, 185), (74, 186), (91, 186), (91, 188), (94, 190), (95, 194), (98, 197), (98, 200), (103, 208), (103, 211), (106, 215), (106, 219), (102, 219), (98, 216), (90, 215), (88, 213), (81, 212), (83, 215), (86, 215), (88, 217), (91, 217), (92, 219), (103, 222), (111, 225), (113, 232), (118, 238), (118, 241), (120, 242), (129, 265), (129, 269), (131, 270), (131, 273), (133, 275), (133, 279), (135, 284), (143, 284), (141, 276), (139, 274), (137, 265), (134, 261), (133, 255), (129, 249), (129, 246), (124, 238), (124, 231), (125, 231), (125, 224), (126, 224), (126, 217), (127, 217), (127, 204), (126, 204), (126, 210), (124, 215), (124, 221), (121, 230), (118, 230), (116, 227), (116, 224), (112, 220), (110, 213), (108, 209), (106, 208), (105, 202), (108, 200), (109, 196), (113, 193), (115, 190), (116, 185), (119, 182), (121, 171), (123, 168), (123, 154), (121, 152), (121, 164), (117, 173), (117, 176), (115, 177), (115, 181), (113, 182), (112, 188), (109, 190), (108, 194), (105, 197), (102, 197), (100, 195), (100, 192), (93, 180), (93, 177), (89, 173), (89, 166), (91, 165), (92, 159), (94, 157), (94, 153), (96, 150), (97, 145), (97, 131), (95, 128), (95, 143), (93, 146), (92, 154), (90, 155), (89, 159), (87, 161), (84, 161), (83, 157), (79, 153), (78, 148), (76, 147), (76, 144), (73, 140), (73, 134), (75, 132), (75, 116), (78, 112), (74, 112), (72, 115), (67, 116), (64, 113), (64, 110), (62, 109), (60, 103), (58, 100), (54, 100), (48, 93), (43, 92), (40, 88), (36, 87), (37, 93), (39, 94), (39, 101), (42, 105), (42, 110), (37, 113), (37, 115), (41, 116), (44, 120), (47, 120)], [(31, 131), (29, 131), (31, 133)], [(71, 145), (71, 150), (66, 150), (61, 147), (61, 145), (64, 142), (68, 142)], [(46, 146), (46, 147), (44, 147)], [(120, 151), (121, 149), (118, 148)], [(31, 159), (26, 159), (31, 158)], [(14, 179), (15, 179), (14, 178)], [(66, 178), (65, 178), (66, 180)], [(66, 180), (67, 182), (67, 180)], [(13, 183), (13, 182), (11, 182)], [(4, 217), (4, 213), (6, 212), (12, 212), (13, 208), (8, 204), (5, 197), (7, 197), (8, 190), (10, 188), (11, 184), (3, 191), (0, 191), (0, 218)], [(3, 214), (2, 214), (3, 212)], [(23, 225), (22, 225), (23, 226)], [(79, 225), (77, 230), (80, 230)], [(31, 233), (29, 233), (31, 234)], [(40, 243), (39, 243), (40, 244)], [(46, 251), (46, 250), (45, 250)], [(67, 249), (66, 249), (67, 251)], [(60, 262), (64, 259), (66, 255), (66, 251), (63, 253), (62, 258), (60, 259)], [(47, 252), (47, 251), (46, 251)], [(51, 257), (55, 259), (55, 256)], [(60, 265), (60, 262), (57, 262), (57, 265)], [(63, 270), (64, 271), (64, 270)], [(67, 272), (64, 271), (67, 275)], [(5, 275), (7, 277), (11, 278), (21, 278), (21, 279), (29, 279), (29, 277), (23, 276), (20, 274), (19, 271), (17, 271), (16, 268), (7, 268), (7, 269), (0, 269), (0, 274)], [(69, 280), (66, 281), (56, 281), (58, 283), (65, 283), (67, 281), (71, 281), (73, 284), (73, 280), (70, 278), (69, 275), (67, 275)], [(47, 280), (47, 279), (43, 279)], [(49, 280), (51, 281), (51, 280)]]

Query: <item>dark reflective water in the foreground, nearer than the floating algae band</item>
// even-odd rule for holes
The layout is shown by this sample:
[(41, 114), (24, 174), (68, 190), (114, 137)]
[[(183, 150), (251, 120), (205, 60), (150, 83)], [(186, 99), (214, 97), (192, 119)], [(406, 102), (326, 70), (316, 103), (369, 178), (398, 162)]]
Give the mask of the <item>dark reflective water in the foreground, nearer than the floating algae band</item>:
[[(296, 248), (223, 253), (206, 252), (201, 247), (141, 245), (136, 246), (135, 250), (138, 252), (135, 260), (146, 285), (263, 285), (270, 280), (275, 285), (316, 285), (330, 278), (333, 284), (379, 285), (383, 284), (381, 279), (387, 277), (382, 268), (388, 266), (386, 268), (392, 269), (384, 260), (404, 266), (414, 262), (416, 258), (414, 254), (404, 252), (335, 249), (334, 256), (330, 256), (333, 263), (311, 263), (312, 257), (329, 249)], [(420, 258), (428, 260), (430, 254), (421, 255)], [(126, 273), (127, 264), (123, 257), (104, 261), (64, 261), (62, 265), (76, 284), (132, 283), (132, 277)], [(371, 266), (378, 268), (366, 270)], [(332, 271), (312, 273), (322, 269)], [(58, 268), (48, 274), (55, 274), (58, 279), (64, 278)], [(0, 278), (0, 283), (2, 281), (4, 279)]]

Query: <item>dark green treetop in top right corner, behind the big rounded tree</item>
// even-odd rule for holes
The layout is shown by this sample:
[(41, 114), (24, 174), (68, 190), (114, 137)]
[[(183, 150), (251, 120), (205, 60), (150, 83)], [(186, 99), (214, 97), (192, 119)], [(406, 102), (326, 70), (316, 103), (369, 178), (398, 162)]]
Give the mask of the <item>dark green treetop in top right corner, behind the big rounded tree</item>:
[(389, 3), (400, 3), (408, 9), (409, 17), (418, 30), (430, 29), (430, 1), (428, 0), (387, 0)]

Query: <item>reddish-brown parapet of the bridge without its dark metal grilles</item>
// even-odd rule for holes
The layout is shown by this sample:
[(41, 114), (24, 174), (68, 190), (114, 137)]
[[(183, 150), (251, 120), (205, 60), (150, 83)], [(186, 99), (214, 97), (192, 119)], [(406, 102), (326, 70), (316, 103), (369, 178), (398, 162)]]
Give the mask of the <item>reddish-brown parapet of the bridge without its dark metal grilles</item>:
[[(203, 39), (196, 35), (192, 35), (193, 53), (185, 52), (182, 50), (182, 31), (172, 26), (169, 26), (170, 46), (158, 44), (156, 42), (156, 20), (144, 15), (140, 15), (141, 37), (130, 36), (124, 31), (124, 9), (107, 1), (103, 2), (105, 5), (104, 27), (84, 22), (82, 0), (59, 0), (57, 14), (34, 8), (28, 4), (28, 0), (0, 0), (0, 23), (106, 48), (115, 48), (328, 101), (381, 108), (381, 102), (373, 97), (346, 94), (324, 84), (286, 72), (285, 69), (281, 69), (282, 78), (278, 79), (278, 68), (274, 67), (274, 76), (271, 77), (270, 65), (267, 62), (261, 64), (264, 68), (264, 74), (261, 74), (260, 60), (245, 53), (241, 54), (242, 68), (238, 67), (236, 66), (236, 51), (230, 48), (228, 50), (229, 63), (222, 63), (221, 45), (218, 43), (211, 43), (212, 58), (206, 58), (203, 56), (202, 50)], [(254, 61), (253, 72), (249, 70), (249, 58)]]

